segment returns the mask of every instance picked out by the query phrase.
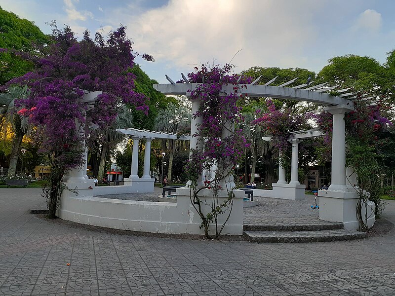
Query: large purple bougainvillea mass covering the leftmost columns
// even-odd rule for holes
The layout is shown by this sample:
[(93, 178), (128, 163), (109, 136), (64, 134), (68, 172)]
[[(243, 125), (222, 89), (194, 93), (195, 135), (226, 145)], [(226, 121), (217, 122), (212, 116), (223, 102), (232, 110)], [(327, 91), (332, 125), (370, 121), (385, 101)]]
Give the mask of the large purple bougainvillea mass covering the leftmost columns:
[[(107, 40), (98, 33), (91, 39), (85, 32), (78, 41), (69, 27), (55, 27), (52, 37), (49, 54), (36, 61), (36, 70), (12, 79), (5, 87), (15, 83), (29, 87), (29, 98), (16, 102), (22, 107), (18, 113), (40, 127), (44, 152), (59, 157), (75, 152), (74, 159), (63, 159), (68, 162), (65, 168), (70, 168), (81, 161), (81, 148), (92, 132), (88, 128), (91, 123), (104, 130), (116, 118), (122, 103), (147, 113), (148, 99), (135, 92), (135, 76), (128, 73), (136, 53), (125, 27), (111, 32)], [(153, 60), (149, 55), (143, 57)], [(82, 101), (85, 91), (98, 90), (103, 93), (90, 103), (94, 108), (88, 108)]]

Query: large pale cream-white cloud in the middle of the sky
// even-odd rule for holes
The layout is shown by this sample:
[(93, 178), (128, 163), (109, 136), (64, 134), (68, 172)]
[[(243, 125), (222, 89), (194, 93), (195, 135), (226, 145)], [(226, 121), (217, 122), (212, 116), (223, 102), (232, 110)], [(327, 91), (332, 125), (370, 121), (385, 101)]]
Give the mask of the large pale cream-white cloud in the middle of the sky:
[(178, 68), (190, 70), (189, 64), (213, 59), (228, 63), (239, 49), (233, 61), (239, 70), (298, 67), (306, 42), (318, 34), (311, 23), (320, 5), (306, 6), (299, 1), (170, 0), (124, 24), (137, 51)]

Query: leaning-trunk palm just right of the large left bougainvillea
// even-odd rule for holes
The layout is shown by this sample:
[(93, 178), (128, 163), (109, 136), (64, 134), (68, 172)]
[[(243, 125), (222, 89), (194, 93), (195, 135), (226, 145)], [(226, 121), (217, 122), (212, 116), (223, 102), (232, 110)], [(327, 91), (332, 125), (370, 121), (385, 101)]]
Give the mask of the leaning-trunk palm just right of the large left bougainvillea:
[(106, 130), (104, 134), (104, 142), (102, 144), (100, 164), (97, 178), (99, 180), (103, 179), (104, 176), (104, 166), (106, 163), (106, 158), (110, 152), (110, 148), (117, 145), (123, 138), (123, 134), (116, 131), (117, 128), (130, 128), (133, 127), (133, 113), (126, 105), (122, 105), (119, 108), (117, 117), (113, 125)]

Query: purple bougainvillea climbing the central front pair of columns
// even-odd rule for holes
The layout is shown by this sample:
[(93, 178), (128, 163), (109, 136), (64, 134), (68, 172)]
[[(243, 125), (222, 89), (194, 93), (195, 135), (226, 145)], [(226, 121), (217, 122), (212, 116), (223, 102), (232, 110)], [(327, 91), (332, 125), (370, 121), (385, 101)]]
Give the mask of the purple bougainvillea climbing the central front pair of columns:
[[(197, 134), (192, 136), (199, 137), (198, 146), (202, 147), (192, 151), (191, 159), (186, 165), (191, 180), (197, 180), (203, 170), (210, 169), (214, 164), (217, 165), (216, 179), (226, 178), (243, 154), (245, 139), (241, 130), (234, 130), (241, 111), (236, 102), (243, 94), (237, 86), (239, 76), (230, 74), (232, 69), (233, 66), (228, 64), (224, 67), (215, 65), (211, 69), (203, 65), (200, 70), (195, 68), (194, 73), (188, 74), (192, 83), (199, 83), (190, 91), (191, 99), (200, 102), (199, 109), (192, 116), (195, 119), (201, 118)], [(249, 77), (238, 80), (238, 83), (250, 82)], [(223, 86), (229, 84), (235, 84), (233, 91), (222, 94)], [(244, 87), (245, 85), (240, 86)]]

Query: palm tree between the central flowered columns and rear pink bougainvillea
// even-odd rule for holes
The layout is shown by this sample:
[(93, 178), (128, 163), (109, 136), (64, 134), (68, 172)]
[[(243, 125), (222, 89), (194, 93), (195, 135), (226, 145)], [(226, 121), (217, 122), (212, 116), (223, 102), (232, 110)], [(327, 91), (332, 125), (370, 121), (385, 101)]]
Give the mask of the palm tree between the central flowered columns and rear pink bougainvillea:
[[(262, 137), (265, 136), (265, 131), (261, 125), (253, 123), (255, 119), (261, 117), (264, 108), (265, 107), (259, 105), (252, 105), (249, 111), (243, 112), (244, 122), (241, 128), (243, 129), (245, 140), (250, 144), (249, 150), (251, 151), (252, 168), (250, 182), (254, 181), (253, 176), (255, 175), (258, 156), (261, 157), (266, 154), (271, 155), (270, 143), (262, 139)], [(249, 164), (246, 163), (245, 165), (247, 166)], [(266, 178), (268, 177), (268, 174), (266, 174)]]

